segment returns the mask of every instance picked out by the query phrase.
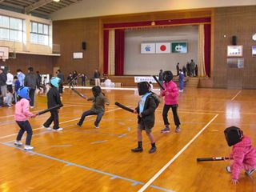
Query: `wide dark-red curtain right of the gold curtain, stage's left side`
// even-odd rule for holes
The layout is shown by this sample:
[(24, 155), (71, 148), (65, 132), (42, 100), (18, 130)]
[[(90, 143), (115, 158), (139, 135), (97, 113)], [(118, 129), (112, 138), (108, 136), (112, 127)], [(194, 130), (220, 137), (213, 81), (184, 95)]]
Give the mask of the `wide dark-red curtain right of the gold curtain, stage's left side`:
[(114, 75), (123, 75), (125, 30), (114, 30)]

